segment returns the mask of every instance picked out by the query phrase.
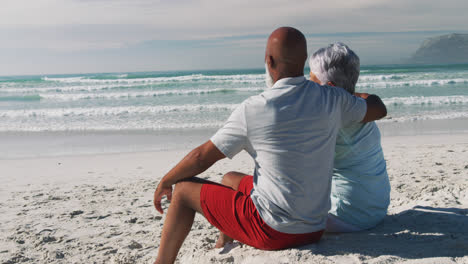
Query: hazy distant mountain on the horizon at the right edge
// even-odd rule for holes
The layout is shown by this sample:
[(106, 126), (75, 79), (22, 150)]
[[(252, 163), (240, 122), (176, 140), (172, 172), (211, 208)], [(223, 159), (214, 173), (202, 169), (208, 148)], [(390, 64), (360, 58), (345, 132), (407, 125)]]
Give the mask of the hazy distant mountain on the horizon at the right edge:
[(413, 54), (411, 63), (468, 63), (468, 34), (448, 34), (423, 42)]

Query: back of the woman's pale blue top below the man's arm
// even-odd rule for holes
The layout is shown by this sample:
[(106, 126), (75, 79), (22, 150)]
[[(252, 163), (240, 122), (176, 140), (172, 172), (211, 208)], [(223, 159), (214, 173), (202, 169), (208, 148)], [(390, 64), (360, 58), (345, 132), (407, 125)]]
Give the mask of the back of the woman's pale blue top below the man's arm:
[(330, 213), (359, 229), (387, 214), (390, 182), (375, 122), (340, 130), (335, 149)]

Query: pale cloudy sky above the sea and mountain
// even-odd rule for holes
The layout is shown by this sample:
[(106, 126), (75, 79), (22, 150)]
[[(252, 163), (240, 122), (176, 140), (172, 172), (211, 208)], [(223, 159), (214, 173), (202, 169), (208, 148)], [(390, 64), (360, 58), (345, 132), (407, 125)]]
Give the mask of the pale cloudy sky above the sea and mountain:
[(0, 75), (262, 68), (292, 26), (313, 53), (348, 44), (401, 63), (424, 39), (468, 33), (466, 0), (2, 0)]

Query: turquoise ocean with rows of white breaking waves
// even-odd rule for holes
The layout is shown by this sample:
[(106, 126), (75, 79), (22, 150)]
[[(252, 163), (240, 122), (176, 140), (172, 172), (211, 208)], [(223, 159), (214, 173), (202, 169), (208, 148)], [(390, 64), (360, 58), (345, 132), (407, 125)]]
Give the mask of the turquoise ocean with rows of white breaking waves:
[[(265, 89), (264, 78), (264, 69), (0, 76), (0, 133), (5, 142), (38, 132), (215, 131)], [(468, 117), (468, 64), (362, 66), (356, 91), (383, 99), (381, 127), (460, 120)]]

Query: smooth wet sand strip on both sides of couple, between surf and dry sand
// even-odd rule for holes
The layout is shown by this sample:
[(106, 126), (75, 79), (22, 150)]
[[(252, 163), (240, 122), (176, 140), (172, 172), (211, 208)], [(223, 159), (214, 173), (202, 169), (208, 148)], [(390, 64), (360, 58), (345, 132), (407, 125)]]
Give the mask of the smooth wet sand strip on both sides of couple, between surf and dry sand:
[[(377, 122), (382, 139), (398, 136), (456, 136), (468, 119)], [(187, 150), (209, 140), (217, 128), (131, 131), (0, 132), (0, 160)]]

